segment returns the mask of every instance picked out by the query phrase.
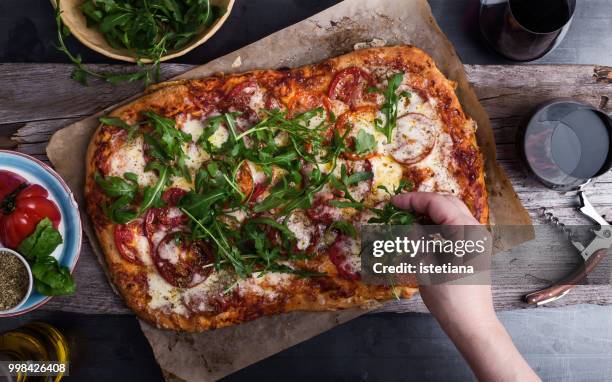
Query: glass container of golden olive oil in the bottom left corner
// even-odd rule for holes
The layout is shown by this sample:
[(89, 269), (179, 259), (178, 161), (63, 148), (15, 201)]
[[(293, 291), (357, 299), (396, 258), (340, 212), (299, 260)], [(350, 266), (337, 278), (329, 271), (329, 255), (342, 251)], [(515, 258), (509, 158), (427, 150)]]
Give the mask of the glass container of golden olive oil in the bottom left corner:
[[(44, 322), (32, 322), (0, 335), (0, 381), (59, 382), (67, 375), (69, 359), (64, 335)], [(39, 367), (38, 373), (34, 369), (15, 372), (21, 370), (16, 365), (28, 361), (54, 365)]]

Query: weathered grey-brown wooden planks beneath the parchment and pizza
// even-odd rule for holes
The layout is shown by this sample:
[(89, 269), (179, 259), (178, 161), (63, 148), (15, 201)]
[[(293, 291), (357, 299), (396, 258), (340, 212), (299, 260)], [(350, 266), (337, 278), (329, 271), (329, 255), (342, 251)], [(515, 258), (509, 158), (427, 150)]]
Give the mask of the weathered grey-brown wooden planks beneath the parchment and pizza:
[[(104, 65), (96, 66), (100, 70), (109, 69)], [(191, 67), (165, 65), (164, 77), (172, 77)], [(124, 67), (112, 66), (111, 69), (124, 70)], [(72, 67), (66, 64), (0, 64), (0, 148), (15, 149), (48, 161), (45, 147), (53, 132), (141, 90), (138, 84), (113, 87), (101, 82), (82, 87), (69, 78), (71, 70)], [(465, 70), (491, 118), (498, 161), (534, 223), (541, 223), (537, 210), (542, 206), (551, 208), (567, 224), (588, 223), (574, 210), (575, 193), (546, 189), (526, 175), (517, 159), (514, 136), (526, 113), (551, 98), (576, 98), (610, 113), (612, 68), (591, 65), (466, 65)], [(588, 192), (596, 209), (612, 216), (612, 172), (597, 179), (589, 186)], [(74, 296), (56, 297), (43, 309), (129, 313), (121, 299), (111, 291), (86, 238), (83, 244), (76, 270), (78, 292)], [(521, 296), (544, 285), (543, 280), (510, 286), (494, 285), (496, 308), (525, 308), (527, 305), (521, 302)], [(576, 303), (612, 304), (612, 286), (578, 286), (550, 306)], [(426, 311), (420, 298), (396, 301), (383, 310)]]

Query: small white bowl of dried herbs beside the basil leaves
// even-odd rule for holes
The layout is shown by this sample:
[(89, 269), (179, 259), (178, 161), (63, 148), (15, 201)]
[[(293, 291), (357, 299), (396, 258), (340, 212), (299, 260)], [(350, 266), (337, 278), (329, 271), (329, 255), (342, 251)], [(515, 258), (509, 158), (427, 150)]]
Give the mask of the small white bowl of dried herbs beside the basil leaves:
[(19, 253), (0, 248), (0, 313), (4, 317), (19, 314), (32, 293), (30, 265)]

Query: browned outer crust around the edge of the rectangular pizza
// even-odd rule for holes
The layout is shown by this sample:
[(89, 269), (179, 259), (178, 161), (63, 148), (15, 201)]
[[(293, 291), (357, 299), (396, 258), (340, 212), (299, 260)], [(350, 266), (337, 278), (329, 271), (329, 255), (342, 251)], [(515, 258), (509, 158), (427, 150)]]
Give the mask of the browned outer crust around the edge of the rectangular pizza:
[[(454, 93), (455, 84), (444, 77), (425, 52), (415, 47), (363, 49), (291, 70), (258, 70), (160, 84), (142, 98), (116, 109), (111, 116), (133, 123), (138, 119), (139, 113), (145, 110), (153, 110), (170, 118), (186, 113), (202, 115), (208, 108), (214, 108), (224, 94), (228, 94), (245, 81), (257, 81), (262, 84), (268, 89), (268, 95), (274, 99), (273, 102), (287, 105), (289, 110), (297, 113), (317, 106), (313, 104), (316, 100), (313, 100), (312, 95), (327, 94), (334, 74), (350, 67), (365, 67), (372, 73), (402, 70), (408, 76), (407, 86), (411, 91), (423, 99), (434, 101), (435, 106), (427, 106), (429, 109), (424, 109), (423, 113), (431, 113), (432, 110), (434, 113), (437, 112), (448, 133), (452, 152), (446, 154), (452, 156), (453, 163), (456, 164), (452, 169), (452, 177), (457, 183), (457, 195), (464, 200), (481, 223), (487, 223), (488, 205), (484, 167), (474, 134), (476, 125), (463, 112)], [(337, 107), (341, 108), (342, 105)], [(338, 276), (329, 259), (322, 259), (319, 269), (329, 270), (329, 276), (292, 279), (282, 288), (278, 286), (262, 288), (264, 291), (280, 293), (281, 298), (277, 296), (275, 299), (266, 300), (265, 295), (262, 297), (247, 291), (225, 306), (221, 304), (212, 312), (193, 313), (185, 311), (185, 306), (178, 313), (167, 307), (151, 308), (153, 297), (149, 290), (148, 274), (155, 272), (155, 268), (150, 265), (129, 263), (119, 254), (114, 241), (115, 225), (101, 210), (101, 205), (108, 202), (108, 198), (93, 180), (94, 174), (108, 166), (109, 158), (120, 147), (120, 139), (117, 138), (119, 135), (118, 128), (100, 126), (90, 142), (86, 158), (87, 211), (104, 252), (112, 283), (124, 297), (127, 305), (143, 320), (165, 329), (204, 331), (235, 325), (263, 315), (294, 310), (323, 311), (370, 306), (377, 300), (393, 298), (396, 293), (401, 298), (409, 298), (417, 291), (415, 284), (396, 287), (393, 292), (388, 287), (345, 280)], [(411, 155), (409, 150), (399, 152), (407, 158)], [(404, 173), (417, 182), (428, 176), (418, 168), (404, 169)]]

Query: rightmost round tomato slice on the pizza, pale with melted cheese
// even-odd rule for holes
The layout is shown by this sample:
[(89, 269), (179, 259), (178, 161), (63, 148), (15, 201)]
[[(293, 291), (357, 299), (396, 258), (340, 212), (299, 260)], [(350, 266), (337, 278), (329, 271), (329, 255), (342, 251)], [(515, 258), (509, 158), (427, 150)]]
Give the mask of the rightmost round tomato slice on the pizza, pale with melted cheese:
[(408, 113), (397, 120), (389, 153), (396, 161), (414, 164), (425, 159), (436, 145), (438, 128), (422, 114)]

